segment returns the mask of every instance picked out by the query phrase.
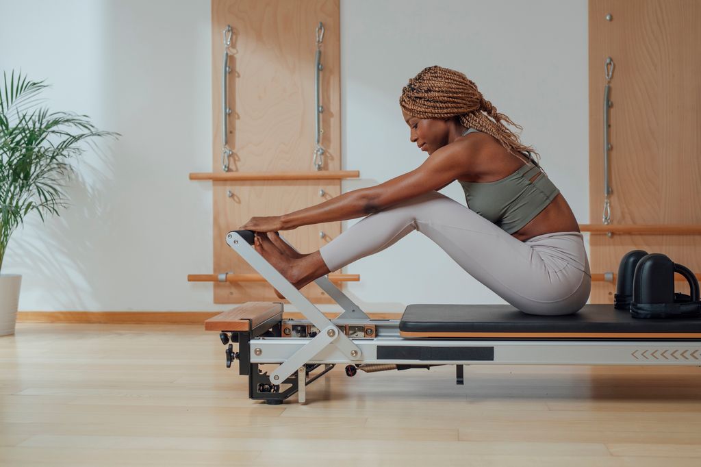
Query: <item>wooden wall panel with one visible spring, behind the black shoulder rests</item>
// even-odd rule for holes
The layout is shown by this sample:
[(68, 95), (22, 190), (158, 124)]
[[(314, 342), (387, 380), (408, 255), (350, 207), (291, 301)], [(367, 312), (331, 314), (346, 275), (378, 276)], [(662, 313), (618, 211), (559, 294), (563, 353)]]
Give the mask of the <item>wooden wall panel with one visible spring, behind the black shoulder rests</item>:
[[(606, 15), (612, 15), (607, 21)], [(604, 207), (604, 63), (614, 63), (609, 119), (613, 224), (701, 224), (701, 2), (590, 0), (590, 222)], [(618, 271), (634, 249), (701, 271), (697, 235), (590, 236), (592, 273)], [(678, 290), (688, 287), (677, 283)], [(591, 303), (615, 284), (592, 283)]]

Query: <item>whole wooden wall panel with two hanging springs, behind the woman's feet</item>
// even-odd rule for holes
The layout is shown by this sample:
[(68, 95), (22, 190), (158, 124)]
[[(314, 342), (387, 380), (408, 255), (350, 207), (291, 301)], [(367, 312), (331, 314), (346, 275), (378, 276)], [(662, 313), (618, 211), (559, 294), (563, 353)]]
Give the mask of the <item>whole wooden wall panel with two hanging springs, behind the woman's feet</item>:
[[(341, 170), (339, 0), (212, 0), (212, 170), (222, 171), (222, 31), (229, 48), (230, 171), (314, 171), (316, 28), (323, 22), (320, 75), (323, 170)], [(214, 182), (214, 273), (254, 273), (225, 236), (253, 216), (283, 215), (339, 196), (339, 180)], [(319, 189), (327, 193), (319, 196)], [(231, 191), (233, 196), (227, 196)], [(324, 231), (327, 237), (320, 238)], [(283, 231), (301, 252), (318, 250), (341, 232), (341, 222)], [(332, 303), (314, 284), (301, 290)], [(215, 303), (278, 301), (267, 283), (215, 283)]]

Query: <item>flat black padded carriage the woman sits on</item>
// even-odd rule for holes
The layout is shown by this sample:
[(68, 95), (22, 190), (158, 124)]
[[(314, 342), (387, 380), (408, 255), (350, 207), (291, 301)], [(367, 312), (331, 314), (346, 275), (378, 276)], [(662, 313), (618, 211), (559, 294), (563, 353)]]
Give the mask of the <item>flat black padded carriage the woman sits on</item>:
[(409, 305), (402, 337), (489, 339), (701, 339), (701, 318), (641, 319), (613, 305), (586, 305), (568, 316), (535, 316), (510, 305)]

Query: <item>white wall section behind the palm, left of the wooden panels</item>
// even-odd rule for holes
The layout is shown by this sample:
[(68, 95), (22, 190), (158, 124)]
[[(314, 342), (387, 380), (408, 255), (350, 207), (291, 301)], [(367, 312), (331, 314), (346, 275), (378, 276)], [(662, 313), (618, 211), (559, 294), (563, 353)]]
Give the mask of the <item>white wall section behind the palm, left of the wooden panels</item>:
[(20, 310), (209, 310), (210, 2), (0, 2), (0, 66), (53, 84), (52, 109), (122, 133), (86, 153), (73, 207), (15, 232)]

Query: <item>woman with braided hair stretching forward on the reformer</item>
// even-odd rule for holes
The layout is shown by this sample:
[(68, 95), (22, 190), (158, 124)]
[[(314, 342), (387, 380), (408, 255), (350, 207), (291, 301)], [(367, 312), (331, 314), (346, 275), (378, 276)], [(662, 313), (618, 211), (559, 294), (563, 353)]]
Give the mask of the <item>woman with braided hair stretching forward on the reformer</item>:
[[(400, 106), (411, 142), (428, 152), (426, 161), (310, 208), (252, 217), (239, 229), (261, 233), (256, 250), (299, 289), (418, 230), (524, 313), (580, 310), (591, 290), (583, 236), (538, 165), (540, 155), (502, 121), (522, 127), (499, 114), (464, 74), (437, 66), (409, 80)], [(463, 186), (468, 207), (437, 192), (454, 180)], [(367, 217), (308, 255), (294, 252), (277, 234), (362, 216)]]

